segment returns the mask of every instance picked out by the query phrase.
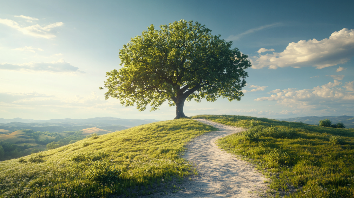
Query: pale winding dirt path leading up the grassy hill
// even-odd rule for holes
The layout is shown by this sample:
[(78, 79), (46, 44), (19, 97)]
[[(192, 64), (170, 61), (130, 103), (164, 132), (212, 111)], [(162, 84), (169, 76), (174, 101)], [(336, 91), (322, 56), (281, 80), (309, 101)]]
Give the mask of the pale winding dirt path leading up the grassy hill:
[[(217, 139), (239, 133), (242, 128), (227, 126), (205, 119), (202, 123), (219, 128), (193, 139), (187, 145), (183, 158), (198, 164), (199, 175), (194, 181), (185, 181), (186, 189), (174, 193), (173, 197), (259, 197), (267, 190), (263, 180), (267, 180), (248, 162), (222, 151), (215, 144)], [(168, 196), (167, 196), (168, 197)]]

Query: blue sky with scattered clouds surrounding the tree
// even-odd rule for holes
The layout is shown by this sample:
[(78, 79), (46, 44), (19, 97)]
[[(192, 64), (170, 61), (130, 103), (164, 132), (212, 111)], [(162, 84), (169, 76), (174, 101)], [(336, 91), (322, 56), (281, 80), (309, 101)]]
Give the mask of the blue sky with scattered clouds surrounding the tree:
[(241, 101), (184, 104), (187, 116), (354, 116), (354, 1), (0, 0), (0, 118), (169, 120), (104, 99), (119, 50), (150, 24), (185, 19), (233, 41), (252, 67)]

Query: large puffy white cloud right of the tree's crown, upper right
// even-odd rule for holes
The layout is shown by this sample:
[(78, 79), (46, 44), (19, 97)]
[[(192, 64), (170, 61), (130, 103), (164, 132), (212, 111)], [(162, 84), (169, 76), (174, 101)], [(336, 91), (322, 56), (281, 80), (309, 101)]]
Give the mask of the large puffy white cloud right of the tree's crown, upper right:
[(317, 69), (348, 62), (354, 54), (354, 30), (343, 28), (335, 31), (327, 39), (300, 40), (289, 43), (283, 52), (273, 52), (253, 56), (252, 68), (269, 69), (304, 66), (315, 66)]

